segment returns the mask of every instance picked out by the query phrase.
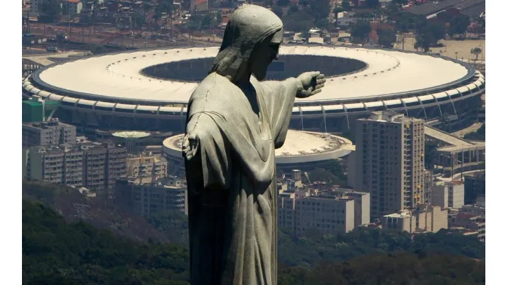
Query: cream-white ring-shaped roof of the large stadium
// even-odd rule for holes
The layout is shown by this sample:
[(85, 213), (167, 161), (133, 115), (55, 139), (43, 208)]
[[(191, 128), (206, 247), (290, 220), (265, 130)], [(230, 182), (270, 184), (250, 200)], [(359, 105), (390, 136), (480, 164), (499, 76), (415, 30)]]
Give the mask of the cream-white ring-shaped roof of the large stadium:
[[(187, 103), (197, 83), (154, 79), (141, 75), (140, 71), (165, 62), (213, 58), (217, 52), (218, 47), (192, 47), (113, 53), (49, 66), (37, 76), (39, 82), (62, 96), (73, 93), (71, 97), (109, 102), (128, 99), (139, 103)], [(329, 77), (323, 92), (305, 101), (426, 90), (458, 81), (468, 74), (464, 65), (450, 59), (384, 49), (283, 46), (280, 53), (337, 56), (368, 64), (367, 69), (358, 73)]]

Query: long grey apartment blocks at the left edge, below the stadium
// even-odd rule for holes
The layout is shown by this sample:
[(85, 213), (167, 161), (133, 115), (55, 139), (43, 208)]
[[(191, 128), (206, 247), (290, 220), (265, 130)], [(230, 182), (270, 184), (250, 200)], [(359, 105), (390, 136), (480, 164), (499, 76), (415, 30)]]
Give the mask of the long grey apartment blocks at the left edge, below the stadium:
[(125, 174), (126, 149), (111, 143), (23, 149), (23, 177), (30, 179), (100, 192), (113, 189)]

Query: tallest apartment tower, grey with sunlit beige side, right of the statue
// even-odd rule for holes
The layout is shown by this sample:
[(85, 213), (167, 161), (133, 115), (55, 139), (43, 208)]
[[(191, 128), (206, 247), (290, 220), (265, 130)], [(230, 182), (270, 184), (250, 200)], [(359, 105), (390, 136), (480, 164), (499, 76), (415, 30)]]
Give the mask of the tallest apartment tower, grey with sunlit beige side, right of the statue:
[(373, 112), (356, 121), (355, 190), (371, 193), (371, 217), (426, 204), (424, 120)]

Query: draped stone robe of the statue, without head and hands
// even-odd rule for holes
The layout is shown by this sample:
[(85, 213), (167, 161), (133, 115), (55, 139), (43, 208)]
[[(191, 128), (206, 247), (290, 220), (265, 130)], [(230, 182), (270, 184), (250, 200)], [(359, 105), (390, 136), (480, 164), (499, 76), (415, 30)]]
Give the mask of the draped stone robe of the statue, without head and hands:
[(286, 139), (297, 79), (251, 84), (259, 117), (250, 91), (217, 73), (189, 100), (186, 133), (199, 138), (185, 164), (192, 285), (277, 284), (275, 148)]

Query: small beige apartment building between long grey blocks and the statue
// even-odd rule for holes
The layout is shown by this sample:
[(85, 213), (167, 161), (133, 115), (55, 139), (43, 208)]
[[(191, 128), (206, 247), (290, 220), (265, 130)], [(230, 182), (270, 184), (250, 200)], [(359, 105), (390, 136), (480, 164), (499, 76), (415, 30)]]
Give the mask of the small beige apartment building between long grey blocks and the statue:
[(168, 175), (168, 160), (158, 156), (132, 156), (127, 157), (128, 177), (163, 178)]

